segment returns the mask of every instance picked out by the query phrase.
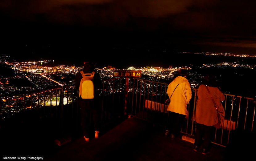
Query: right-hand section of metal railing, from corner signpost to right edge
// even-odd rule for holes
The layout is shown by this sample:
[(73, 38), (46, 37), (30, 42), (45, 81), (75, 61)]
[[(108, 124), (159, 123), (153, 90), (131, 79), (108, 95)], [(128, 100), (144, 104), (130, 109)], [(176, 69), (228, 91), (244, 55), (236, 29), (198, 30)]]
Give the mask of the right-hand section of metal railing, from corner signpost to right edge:
[[(164, 102), (168, 98), (167, 86), (167, 83), (139, 78), (130, 79), (130, 115), (166, 127), (168, 112)], [(189, 117), (184, 121), (181, 129), (182, 133), (191, 136), (194, 136), (196, 131), (196, 92), (197, 89), (192, 88), (192, 99), (188, 105)], [(222, 104), (225, 108), (224, 126), (221, 129), (216, 129), (213, 143), (226, 147), (235, 131), (256, 131), (254, 123), (255, 99), (225, 94), (225, 101)]]

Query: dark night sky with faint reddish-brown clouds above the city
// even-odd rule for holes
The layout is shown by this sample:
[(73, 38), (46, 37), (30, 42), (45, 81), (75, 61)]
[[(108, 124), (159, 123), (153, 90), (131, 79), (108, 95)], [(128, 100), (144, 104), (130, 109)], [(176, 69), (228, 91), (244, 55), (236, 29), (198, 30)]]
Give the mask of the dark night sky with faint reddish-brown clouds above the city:
[(1, 0), (1, 54), (25, 45), (256, 54), (252, 0)]

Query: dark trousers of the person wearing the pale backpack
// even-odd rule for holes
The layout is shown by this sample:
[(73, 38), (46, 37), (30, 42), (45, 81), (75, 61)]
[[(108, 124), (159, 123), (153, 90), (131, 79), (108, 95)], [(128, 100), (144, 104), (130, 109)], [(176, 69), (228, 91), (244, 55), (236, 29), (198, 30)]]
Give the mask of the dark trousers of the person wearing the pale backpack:
[[(93, 121), (94, 130), (100, 130), (100, 117), (98, 108), (96, 108), (94, 100), (81, 100), (79, 107), (81, 111), (81, 126), (83, 134), (86, 138), (90, 138), (91, 120)], [(92, 119), (91, 119), (92, 117)]]

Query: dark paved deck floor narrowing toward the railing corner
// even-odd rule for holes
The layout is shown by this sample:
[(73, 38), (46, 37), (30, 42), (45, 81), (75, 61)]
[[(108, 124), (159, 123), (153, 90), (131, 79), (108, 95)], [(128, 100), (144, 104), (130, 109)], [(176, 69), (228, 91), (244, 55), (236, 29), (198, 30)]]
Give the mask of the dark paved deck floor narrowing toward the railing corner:
[(164, 135), (161, 127), (140, 119), (130, 118), (106, 131), (98, 139), (85, 142), (78, 138), (44, 157), (46, 161), (223, 161), (229, 160), (227, 148), (213, 145), (207, 155), (193, 151), (193, 144)]

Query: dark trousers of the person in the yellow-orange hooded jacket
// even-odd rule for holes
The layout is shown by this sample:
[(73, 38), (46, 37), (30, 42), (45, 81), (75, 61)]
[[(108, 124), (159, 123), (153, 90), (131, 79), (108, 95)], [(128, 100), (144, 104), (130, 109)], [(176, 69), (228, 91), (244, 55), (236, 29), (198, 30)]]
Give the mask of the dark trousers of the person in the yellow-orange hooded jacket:
[(185, 119), (185, 115), (169, 111), (167, 130), (170, 131), (171, 134), (175, 136), (180, 135), (180, 131), (181, 131), (181, 127), (184, 119)]

